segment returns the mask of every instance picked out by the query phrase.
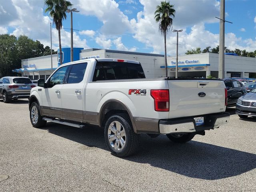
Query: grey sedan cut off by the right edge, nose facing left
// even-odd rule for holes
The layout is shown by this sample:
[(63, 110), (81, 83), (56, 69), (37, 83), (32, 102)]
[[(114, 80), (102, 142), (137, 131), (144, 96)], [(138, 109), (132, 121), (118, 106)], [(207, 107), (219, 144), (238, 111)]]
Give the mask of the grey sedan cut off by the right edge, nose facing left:
[(238, 98), (236, 103), (236, 114), (240, 118), (256, 116), (256, 88), (248, 94)]

